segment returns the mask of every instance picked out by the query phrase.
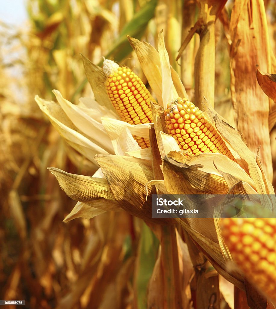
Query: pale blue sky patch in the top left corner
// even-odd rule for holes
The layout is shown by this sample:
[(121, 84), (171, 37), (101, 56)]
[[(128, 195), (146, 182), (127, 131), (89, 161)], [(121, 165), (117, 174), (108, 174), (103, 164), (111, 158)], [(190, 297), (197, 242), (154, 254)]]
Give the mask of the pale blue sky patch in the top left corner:
[(24, 0), (1, 0), (0, 4), (0, 20), (3, 22), (19, 26), (27, 20)]

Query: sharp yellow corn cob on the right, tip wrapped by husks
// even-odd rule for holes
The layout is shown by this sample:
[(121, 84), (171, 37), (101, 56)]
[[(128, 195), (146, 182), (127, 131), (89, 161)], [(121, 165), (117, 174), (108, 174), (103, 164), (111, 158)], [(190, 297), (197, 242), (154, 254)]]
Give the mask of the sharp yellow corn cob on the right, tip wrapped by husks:
[(177, 98), (167, 104), (165, 119), (168, 133), (175, 138), (181, 150), (187, 151), (188, 156), (212, 152), (234, 160), (216, 129), (201, 110), (186, 98)]

